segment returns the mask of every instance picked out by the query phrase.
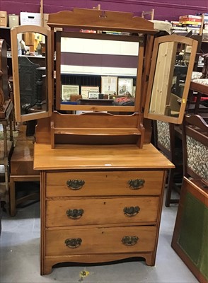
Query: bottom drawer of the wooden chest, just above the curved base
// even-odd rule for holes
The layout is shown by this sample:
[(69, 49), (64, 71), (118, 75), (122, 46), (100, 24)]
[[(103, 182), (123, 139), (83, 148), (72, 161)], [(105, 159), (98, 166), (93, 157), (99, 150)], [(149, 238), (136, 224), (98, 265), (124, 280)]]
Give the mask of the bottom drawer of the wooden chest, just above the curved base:
[(45, 241), (46, 256), (151, 252), (155, 248), (156, 227), (50, 230), (46, 231)]

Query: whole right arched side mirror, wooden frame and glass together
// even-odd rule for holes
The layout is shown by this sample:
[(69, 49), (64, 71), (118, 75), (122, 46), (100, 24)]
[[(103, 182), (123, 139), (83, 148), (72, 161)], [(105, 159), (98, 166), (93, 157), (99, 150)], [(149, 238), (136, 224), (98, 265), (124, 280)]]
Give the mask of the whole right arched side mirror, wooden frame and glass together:
[(179, 35), (155, 40), (144, 117), (182, 122), (196, 48), (194, 40)]

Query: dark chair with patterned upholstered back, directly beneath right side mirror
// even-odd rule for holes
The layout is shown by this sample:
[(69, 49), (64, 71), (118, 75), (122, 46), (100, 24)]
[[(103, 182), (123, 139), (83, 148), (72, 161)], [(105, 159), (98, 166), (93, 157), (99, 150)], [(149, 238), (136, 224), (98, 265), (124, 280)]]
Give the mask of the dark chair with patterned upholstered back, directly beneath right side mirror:
[(170, 169), (167, 180), (166, 207), (178, 203), (178, 199), (171, 198), (171, 192), (180, 193), (183, 178), (182, 141), (175, 132), (175, 125), (168, 122), (154, 121), (155, 146), (175, 165)]

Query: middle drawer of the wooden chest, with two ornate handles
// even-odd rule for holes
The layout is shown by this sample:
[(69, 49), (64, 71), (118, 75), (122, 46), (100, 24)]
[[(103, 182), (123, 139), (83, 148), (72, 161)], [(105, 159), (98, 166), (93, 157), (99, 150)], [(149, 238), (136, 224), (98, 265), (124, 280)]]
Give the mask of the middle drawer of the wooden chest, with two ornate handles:
[(156, 223), (158, 202), (159, 197), (49, 200), (46, 226)]

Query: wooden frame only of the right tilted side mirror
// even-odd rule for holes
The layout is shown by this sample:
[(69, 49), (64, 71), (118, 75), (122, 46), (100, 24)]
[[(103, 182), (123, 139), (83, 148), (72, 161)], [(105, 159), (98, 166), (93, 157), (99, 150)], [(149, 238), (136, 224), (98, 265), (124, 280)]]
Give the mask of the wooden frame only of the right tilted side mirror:
[[(159, 46), (163, 42), (178, 42), (178, 43), (182, 43), (185, 45), (190, 45), (192, 47), (192, 50), (190, 53), (190, 61), (189, 61), (189, 65), (187, 68), (187, 75), (185, 79), (185, 86), (183, 89), (183, 96), (181, 98), (180, 112), (179, 112), (178, 117), (149, 113), (149, 108), (151, 104), (151, 96), (152, 96), (151, 92), (152, 92), (152, 88), (154, 85), (154, 75), (156, 71), (157, 55), (158, 55)], [(185, 113), (187, 96), (189, 93), (190, 81), (192, 77), (192, 70), (195, 64), (197, 45), (198, 45), (197, 40), (193, 40), (192, 38), (184, 37), (180, 35), (166, 35), (164, 37), (157, 37), (155, 39), (154, 50), (153, 50), (152, 59), (151, 59), (151, 69), (150, 69), (150, 74), (149, 74), (149, 84), (148, 84), (147, 93), (146, 93), (146, 103), (145, 103), (145, 108), (144, 108), (145, 118), (148, 118), (151, 120), (160, 120), (163, 122), (171, 122), (173, 124), (181, 124), (183, 122), (183, 116)]]

